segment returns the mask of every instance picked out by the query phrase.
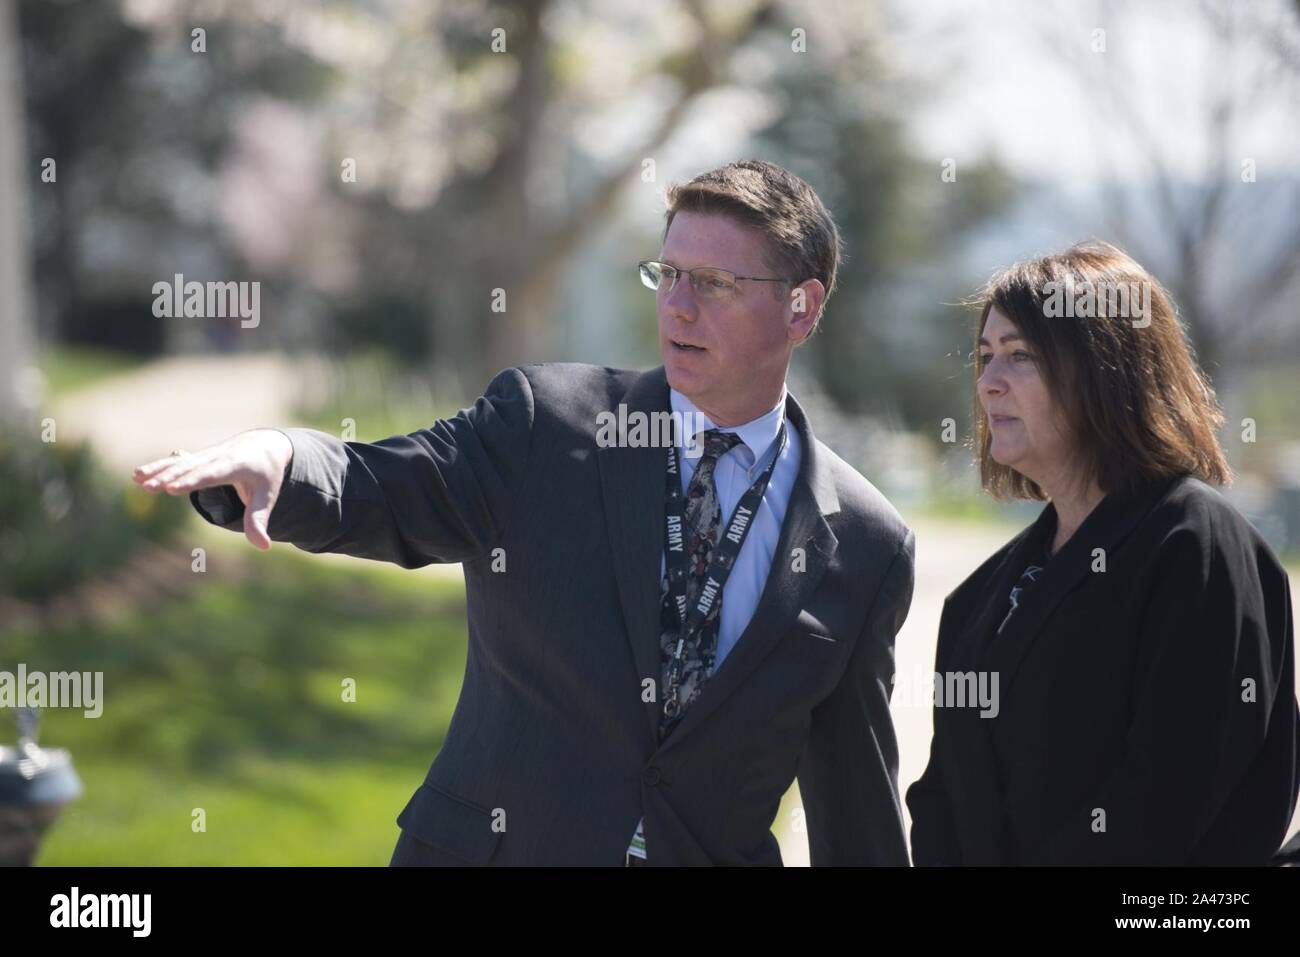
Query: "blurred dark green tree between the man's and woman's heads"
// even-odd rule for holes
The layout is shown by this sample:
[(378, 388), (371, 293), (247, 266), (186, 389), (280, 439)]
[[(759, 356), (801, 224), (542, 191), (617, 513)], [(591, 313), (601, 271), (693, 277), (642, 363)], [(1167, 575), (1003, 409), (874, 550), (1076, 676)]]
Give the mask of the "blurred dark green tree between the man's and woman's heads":
[[(944, 182), (941, 157), (920, 153), (905, 126), (935, 91), (887, 64), (879, 8), (842, 13), (801, 12), (819, 56), (774, 60), (784, 107), (758, 143), (812, 183), (845, 241), (838, 291), (803, 360), (842, 408), (918, 428), (963, 408), (966, 382), (935, 358), (959, 325), (941, 302), (965, 291), (941, 264), (1015, 185), (994, 160)], [(948, 287), (936, 287), (935, 272)], [(900, 295), (918, 286), (924, 299)]]

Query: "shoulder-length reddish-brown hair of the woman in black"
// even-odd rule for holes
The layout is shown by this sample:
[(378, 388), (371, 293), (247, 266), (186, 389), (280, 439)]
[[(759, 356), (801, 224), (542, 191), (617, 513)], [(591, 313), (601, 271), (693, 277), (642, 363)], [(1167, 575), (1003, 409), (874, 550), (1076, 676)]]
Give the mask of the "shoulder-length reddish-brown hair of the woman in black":
[[(1214, 485), (1232, 480), (1216, 437), (1223, 413), (1174, 302), (1122, 250), (1093, 241), (1017, 263), (993, 276), (976, 302), (975, 355), (997, 307), (1034, 351), (1080, 465), (1104, 493), (1134, 493), (1184, 473)], [(976, 382), (980, 372), (976, 361)], [(989, 455), (978, 385), (974, 423), (984, 489), (996, 498), (1045, 499), (1036, 482)]]

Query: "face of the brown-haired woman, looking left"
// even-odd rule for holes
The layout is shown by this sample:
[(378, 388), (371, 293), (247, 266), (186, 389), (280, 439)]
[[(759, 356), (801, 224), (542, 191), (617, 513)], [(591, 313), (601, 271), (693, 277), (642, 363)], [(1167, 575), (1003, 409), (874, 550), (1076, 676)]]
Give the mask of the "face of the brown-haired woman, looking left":
[(1060, 486), (1072, 451), (1065, 419), (1039, 356), (996, 306), (984, 320), (978, 361), (975, 389), (988, 417), (989, 455), (1040, 486)]

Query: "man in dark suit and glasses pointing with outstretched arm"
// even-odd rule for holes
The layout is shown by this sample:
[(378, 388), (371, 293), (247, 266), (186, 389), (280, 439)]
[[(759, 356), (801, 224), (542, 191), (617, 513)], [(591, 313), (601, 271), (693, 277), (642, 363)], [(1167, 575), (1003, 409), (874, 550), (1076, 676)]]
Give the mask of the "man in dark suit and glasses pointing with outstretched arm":
[(907, 863), (913, 534), (785, 387), (837, 230), (771, 164), (668, 199), (641, 268), (664, 365), (524, 365), (410, 436), (260, 429), (136, 471), (259, 547), (463, 563), (464, 685), (394, 865), (780, 865), (796, 776), (814, 865)]

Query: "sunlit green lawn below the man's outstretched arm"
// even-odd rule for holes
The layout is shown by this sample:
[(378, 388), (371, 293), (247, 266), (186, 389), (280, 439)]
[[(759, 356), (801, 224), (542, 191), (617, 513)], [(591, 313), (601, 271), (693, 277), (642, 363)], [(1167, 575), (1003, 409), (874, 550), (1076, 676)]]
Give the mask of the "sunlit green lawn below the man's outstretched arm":
[(101, 716), (44, 713), (86, 791), (38, 863), (386, 865), (460, 690), (463, 585), (208, 537), (209, 570), (252, 573), (113, 624), (0, 635), (6, 668), (104, 672)]

